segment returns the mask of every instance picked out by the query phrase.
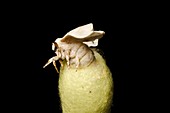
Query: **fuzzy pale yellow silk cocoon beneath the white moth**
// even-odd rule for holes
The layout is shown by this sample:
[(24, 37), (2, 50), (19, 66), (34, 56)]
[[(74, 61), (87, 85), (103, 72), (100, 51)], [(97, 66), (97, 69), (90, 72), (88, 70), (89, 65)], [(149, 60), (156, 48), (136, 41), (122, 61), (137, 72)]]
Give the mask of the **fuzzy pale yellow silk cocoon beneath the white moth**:
[(87, 67), (72, 68), (66, 62), (60, 69), (59, 96), (63, 113), (110, 113), (113, 98), (112, 73), (103, 57)]

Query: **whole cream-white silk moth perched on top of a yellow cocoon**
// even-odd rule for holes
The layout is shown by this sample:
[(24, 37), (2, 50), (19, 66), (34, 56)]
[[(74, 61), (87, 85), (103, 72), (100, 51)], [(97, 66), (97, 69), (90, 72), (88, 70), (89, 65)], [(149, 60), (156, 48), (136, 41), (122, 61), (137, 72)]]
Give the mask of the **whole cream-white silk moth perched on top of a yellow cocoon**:
[(44, 65), (44, 68), (50, 63), (53, 63), (58, 72), (55, 64), (57, 60), (59, 60), (61, 66), (63, 60), (66, 60), (68, 66), (76, 68), (88, 66), (95, 59), (90, 47), (96, 47), (98, 40), (104, 34), (104, 31), (94, 31), (92, 23), (69, 31), (64, 37), (57, 38), (52, 43), (52, 50), (55, 51), (56, 56), (50, 58)]

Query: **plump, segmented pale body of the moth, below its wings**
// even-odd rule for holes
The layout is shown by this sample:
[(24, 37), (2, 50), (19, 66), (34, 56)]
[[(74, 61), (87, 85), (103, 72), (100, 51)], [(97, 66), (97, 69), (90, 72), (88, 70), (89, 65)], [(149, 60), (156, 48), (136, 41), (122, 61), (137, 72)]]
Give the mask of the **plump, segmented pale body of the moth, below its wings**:
[(94, 60), (93, 51), (82, 42), (73, 41), (72, 43), (66, 43), (60, 41), (57, 44), (57, 56), (62, 60), (66, 60), (70, 67), (86, 67)]

